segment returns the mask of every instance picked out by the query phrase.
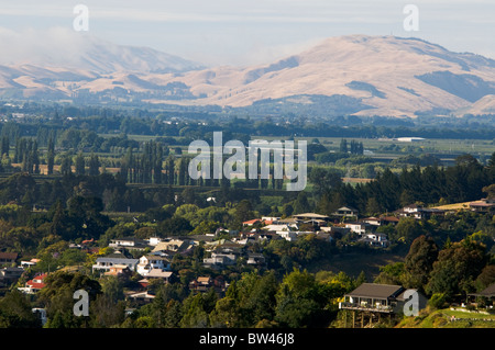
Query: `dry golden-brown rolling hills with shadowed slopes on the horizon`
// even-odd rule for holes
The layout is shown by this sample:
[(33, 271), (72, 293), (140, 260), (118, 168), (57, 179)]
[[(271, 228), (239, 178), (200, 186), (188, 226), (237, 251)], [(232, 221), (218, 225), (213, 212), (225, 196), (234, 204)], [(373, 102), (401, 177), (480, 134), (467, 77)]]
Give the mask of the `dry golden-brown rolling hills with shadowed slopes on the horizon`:
[(213, 67), (91, 38), (70, 57), (0, 66), (0, 98), (218, 105), (256, 113), (495, 113), (495, 60), (418, 38), (349, 35), (255, 67)]

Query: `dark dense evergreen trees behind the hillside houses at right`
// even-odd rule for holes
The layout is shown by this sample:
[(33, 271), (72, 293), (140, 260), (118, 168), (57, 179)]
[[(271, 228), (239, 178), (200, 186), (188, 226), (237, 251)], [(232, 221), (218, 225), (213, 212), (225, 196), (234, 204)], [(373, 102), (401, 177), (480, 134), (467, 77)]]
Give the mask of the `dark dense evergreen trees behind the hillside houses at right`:
[(337, 207), (348, 205), (360, 213), (376, 215), (417, 202), (428, 206), (486, 196), (482, 189), (495, 183), (495, 154), (486, 167), (473, 156), (464, 155), (448, 168), (417, 165), (404, 167), (399, 173), (386, 168), (373, 181), (356, 185), (339, 181), (332, 169), (316, 168), (314, 171), (310, 179), (320, 193), (312, 202), (314, 210), (330, 214)]

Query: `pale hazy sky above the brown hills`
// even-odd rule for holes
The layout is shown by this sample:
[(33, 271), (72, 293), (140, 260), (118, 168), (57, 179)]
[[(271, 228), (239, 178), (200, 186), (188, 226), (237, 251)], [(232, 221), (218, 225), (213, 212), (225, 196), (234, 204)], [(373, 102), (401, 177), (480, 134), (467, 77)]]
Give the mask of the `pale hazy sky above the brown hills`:
[[(87, 32), (73, 27), (77, 4), (89, 10)], [(419, 31), (405, 31), (406, 4), (419, 9)], [(66, 32), (210, 66), (271, 63), (348, 34), (416, 36), (495, 58), (495, 0), (0, 0), (1, 55), (40, 53), (44, 41), (66, 47)]]

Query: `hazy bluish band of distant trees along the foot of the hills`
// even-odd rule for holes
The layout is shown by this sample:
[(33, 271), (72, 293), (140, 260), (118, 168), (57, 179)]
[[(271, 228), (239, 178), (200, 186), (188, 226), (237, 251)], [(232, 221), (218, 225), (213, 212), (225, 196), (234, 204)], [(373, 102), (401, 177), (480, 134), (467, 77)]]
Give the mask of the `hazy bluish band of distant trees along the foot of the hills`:
[[(84, 129), (97, 134), (134, 134), (150, 136), (187, 137), (195, 139), (212, 131), (240, 133), (245, 135), (298, 136), (298, 137), (410, 137), (493, 139), (494, 116), (430, 117), (411, 120), (393, 117), (360, 117), (342, 115), (338, 117), (311, 117), (280, 115), (271, 117), (240, 117), (234, 112), (221, 110), (182, 111), (144, 109), (117, 109), (98, 106), (63, 106), (29, 103), (19, 108), (0, 108), (0, 113), (24, 113), (15, 122), (2, 123), (2, 135), (33, 137), (43, 127), (57, 133), (68, 128)], [(3, 128), (8, 129), (3, 132)], [(42, 145), (42, 144), (41, 144)]]

